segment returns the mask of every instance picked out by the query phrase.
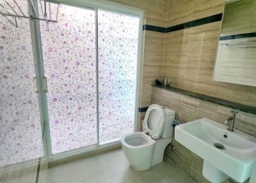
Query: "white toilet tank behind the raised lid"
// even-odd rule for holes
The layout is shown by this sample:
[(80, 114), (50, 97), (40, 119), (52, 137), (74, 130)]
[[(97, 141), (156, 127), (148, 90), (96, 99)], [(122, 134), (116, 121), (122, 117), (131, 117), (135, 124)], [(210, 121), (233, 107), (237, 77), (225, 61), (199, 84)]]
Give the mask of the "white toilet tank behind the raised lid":
[(175, 111), (172, 109), (168, 109), (163, 107), (164, 115), (165, 115), (165, 122), (164, 122), (164, 129), (161, 134), (161, 138), (170, 138), (172, 137), (174, 118), (175, 118)]

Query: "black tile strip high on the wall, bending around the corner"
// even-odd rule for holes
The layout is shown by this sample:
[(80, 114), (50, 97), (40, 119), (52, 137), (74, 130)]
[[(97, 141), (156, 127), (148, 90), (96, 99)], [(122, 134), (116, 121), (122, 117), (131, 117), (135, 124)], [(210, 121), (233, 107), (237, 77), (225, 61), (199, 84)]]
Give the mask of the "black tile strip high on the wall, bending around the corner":
[(222, 19), (222, 13), (216, 14), (216, 15), (212, 15), (209, 17), (205, 17), (202, 19), (197, 19), (197, 20), (193, 20), (190, 22), (186, 22), (183, 24), (179, 24), (176, 26), (171, 26), (168, 28), (162, 28), (159, 26), (150, 26), (148, 24), (143, 25), (143, 31), (155, 31), (158, 33), (170, 33), (173, 31), (179, 31), (182, 29), (188, 29), (188, 28), (193, 28), (195, 26), (202, 26), (204, 24), (210, 24), (212, 22), (218, 22)]

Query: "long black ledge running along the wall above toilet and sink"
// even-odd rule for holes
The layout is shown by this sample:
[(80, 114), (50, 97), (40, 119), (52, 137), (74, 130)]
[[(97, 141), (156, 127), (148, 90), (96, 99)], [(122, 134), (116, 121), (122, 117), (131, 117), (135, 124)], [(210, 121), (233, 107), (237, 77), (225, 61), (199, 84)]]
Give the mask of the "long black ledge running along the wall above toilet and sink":
[(200, 99), (200, 100), (204, 100), (207, 102), (212, 102), (214, 104), (218, 104), (220, 106), (224, 106), (224, 107), (230, 107), (232, 109), (237, 109), (239, 111), (243, 111), (245, 113), (251, 113), (253, 115), (256, 115), (256, 107), (253, 106), (248, 106), (248, 105), (244, 105), (244, 104), (240, 104), (237, 102), (231, 102), (229, 100), (224, 100), (224, 99), (219, 99), (216, 97), (211, 97), (209, 95), (203, 95), (200, 93), (195, 93), (195, 92), (189, 92), (188, 90), (182, 90), (179, 88), (173, 88), (173, 87), (164, 87), (164, 86), (156, 86), (156, 85), (152, 85), (156, 88), (162, 88), (164, 90), (168, 90), (171, 92), (175, 92), (175, 93), (179, 93), (182, 95), (186, 95), (188, 97), (193, 97), (195, 99)]

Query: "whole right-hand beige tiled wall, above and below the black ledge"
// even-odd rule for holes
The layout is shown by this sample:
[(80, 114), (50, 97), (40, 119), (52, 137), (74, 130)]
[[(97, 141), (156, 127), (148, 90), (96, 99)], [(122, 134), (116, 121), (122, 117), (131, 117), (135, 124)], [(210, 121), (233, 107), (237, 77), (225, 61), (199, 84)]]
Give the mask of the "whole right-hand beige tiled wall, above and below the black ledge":
[[(224, 0), (170, 0), (166, 27), (222, 13), (223, 5)], [(166, 33), (163, 77), (176, 88), (256, 106), (256, 87), (212, 81), (220, 26), (221, 22), (213, 22)], [(174, 109), (182, 122), (207, 117), (223, 123), (230, 116), (228, 107), (154, 87), (151, 102)], [(239, 113), (236, 128), (256, 136), (256, 115)], [(174, 138), (172, 145), (175, 149), (166, 148), (165, 157), (196, 182), (209, 182), (202, 175), (203, 160)]]

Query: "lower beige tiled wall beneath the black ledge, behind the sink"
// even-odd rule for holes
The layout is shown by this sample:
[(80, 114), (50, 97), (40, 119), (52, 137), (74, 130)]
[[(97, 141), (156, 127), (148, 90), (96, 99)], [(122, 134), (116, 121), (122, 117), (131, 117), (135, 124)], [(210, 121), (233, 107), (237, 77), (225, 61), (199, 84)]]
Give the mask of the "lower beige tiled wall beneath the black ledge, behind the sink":
[[(152, 104), (173, 109), (182, 123), (191, 122), (200, 118), (209, 118), (224, 123), (230, 117), (230, 108), (212, 104), (204, 100), (195, 99), (179, 93), (170, 92), (162, 88), (152, 87)], [(240, 111), (237, 114), (235, 129), (256, 136), (256, 115)], [(166, 148), (165, 157), (186, 171), (196, 182), (208, 182), (202, 175), (203, 160), (190, 150), (172, 139), (175, 150)], [(231, 179), (226, 182), (234, 182)]]

